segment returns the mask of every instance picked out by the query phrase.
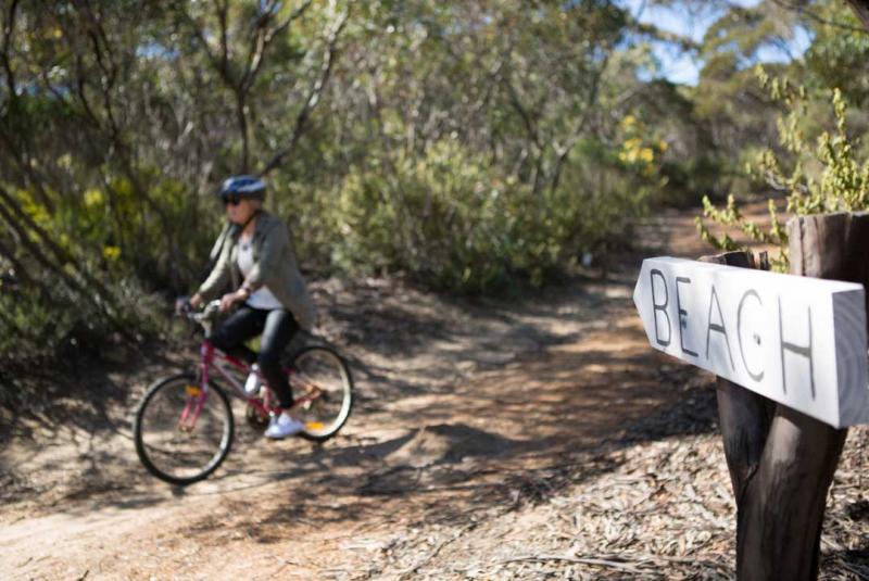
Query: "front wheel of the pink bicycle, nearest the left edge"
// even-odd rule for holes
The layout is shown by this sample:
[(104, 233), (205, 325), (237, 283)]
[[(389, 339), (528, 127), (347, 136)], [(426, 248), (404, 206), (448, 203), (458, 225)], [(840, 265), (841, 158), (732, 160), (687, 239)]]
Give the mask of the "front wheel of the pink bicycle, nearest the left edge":
[(136, 453), (148, 471), (179, 485), (216, 470), (229, 454), (234, 431), (226, 394), (214, 384), (203, 391), (192, 375), (153, 383), (133, 425)]

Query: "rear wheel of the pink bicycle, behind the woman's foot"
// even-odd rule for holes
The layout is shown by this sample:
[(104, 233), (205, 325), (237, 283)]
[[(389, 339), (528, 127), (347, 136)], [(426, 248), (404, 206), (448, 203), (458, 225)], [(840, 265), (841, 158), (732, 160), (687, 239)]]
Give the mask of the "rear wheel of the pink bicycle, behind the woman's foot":
[(291, 386), (300, 402), (297, 409), (308, 440), (328, 440), (341, 429), (353, 407), (353, 378), (338, 353), (310, 346), (292, 359)]

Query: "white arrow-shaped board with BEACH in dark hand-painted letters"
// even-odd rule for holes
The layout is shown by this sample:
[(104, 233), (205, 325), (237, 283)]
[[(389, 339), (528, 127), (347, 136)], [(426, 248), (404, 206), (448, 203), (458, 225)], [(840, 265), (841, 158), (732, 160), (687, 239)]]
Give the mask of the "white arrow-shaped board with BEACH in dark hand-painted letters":
[(647, 258), (648, 342), (836, 428), (869, 424), (862, 285)]

